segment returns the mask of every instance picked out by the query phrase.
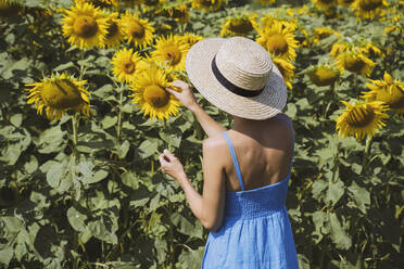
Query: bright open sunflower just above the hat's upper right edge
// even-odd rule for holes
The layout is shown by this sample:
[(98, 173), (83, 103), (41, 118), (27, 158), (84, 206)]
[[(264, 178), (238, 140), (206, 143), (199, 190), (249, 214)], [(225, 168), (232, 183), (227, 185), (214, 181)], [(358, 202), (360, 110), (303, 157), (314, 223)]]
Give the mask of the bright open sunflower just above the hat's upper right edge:
[(272, 28), (261, 30), (258, 34), (260, 37), (256, 42), (269, 51), (272, 56), (294, 61), (296, 57), (294, 49), (298, 48), (298, 41), (289, 28), (285, 28), (281, 23), (275, 22)]

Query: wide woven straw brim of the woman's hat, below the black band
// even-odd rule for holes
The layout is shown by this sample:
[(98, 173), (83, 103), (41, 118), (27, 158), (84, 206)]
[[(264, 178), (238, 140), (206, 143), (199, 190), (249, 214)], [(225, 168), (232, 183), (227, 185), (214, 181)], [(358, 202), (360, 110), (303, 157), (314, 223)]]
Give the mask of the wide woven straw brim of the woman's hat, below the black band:
[(286, 105), (288, 92), (283, 77), (275, 64), (263, 92), (254, 98), (238, 95), (216, 79), (211, 64), (225, 40), (205, 38), (188, 51), (186, 69), (192, 85), (210, 103), (231, 115), (266, 119), (279, 114)]

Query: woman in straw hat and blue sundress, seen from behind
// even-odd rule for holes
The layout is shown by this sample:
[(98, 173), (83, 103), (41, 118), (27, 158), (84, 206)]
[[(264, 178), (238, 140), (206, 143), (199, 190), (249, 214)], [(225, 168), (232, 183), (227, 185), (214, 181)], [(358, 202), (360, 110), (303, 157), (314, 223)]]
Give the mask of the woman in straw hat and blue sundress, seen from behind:
[(203, 194), (189, 182), (168, 151), (162, 170), (182, 188), (190, 208), (210, 229), (202, 268), (298, 268), (285, 206), (293, 158), (291, 120), (282, 76), (267, 51), (243, 38), (207, 38), (187, 54), (190, 81), (213, 105), (233, 117), (227, 130), (195, 102), (191, 86), (177, 80), (166, 90), (197, 117), (203, 141)]

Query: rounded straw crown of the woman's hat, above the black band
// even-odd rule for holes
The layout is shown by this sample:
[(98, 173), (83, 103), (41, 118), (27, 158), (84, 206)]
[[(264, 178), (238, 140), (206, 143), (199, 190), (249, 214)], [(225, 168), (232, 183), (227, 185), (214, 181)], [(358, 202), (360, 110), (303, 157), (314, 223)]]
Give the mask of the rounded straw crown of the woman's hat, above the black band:
[(251, 91), (263, 89), (273, 69), (269, 53), (244, 37), (232, 37), (224, 41), (215, 61), (227, 80)]

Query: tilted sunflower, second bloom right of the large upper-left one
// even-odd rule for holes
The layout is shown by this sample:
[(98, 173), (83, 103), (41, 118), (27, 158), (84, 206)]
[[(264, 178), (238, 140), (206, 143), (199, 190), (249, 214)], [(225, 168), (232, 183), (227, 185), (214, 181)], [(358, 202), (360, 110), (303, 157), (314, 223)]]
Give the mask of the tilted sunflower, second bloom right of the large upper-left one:
[(146, 48), (153, 41), (154, 28), (149, 20), (139, 17), (139, 13), (132, 14), (126, 11), (119, 21), (125, 39), (128, 43), (134, 42), (137, 48)]

